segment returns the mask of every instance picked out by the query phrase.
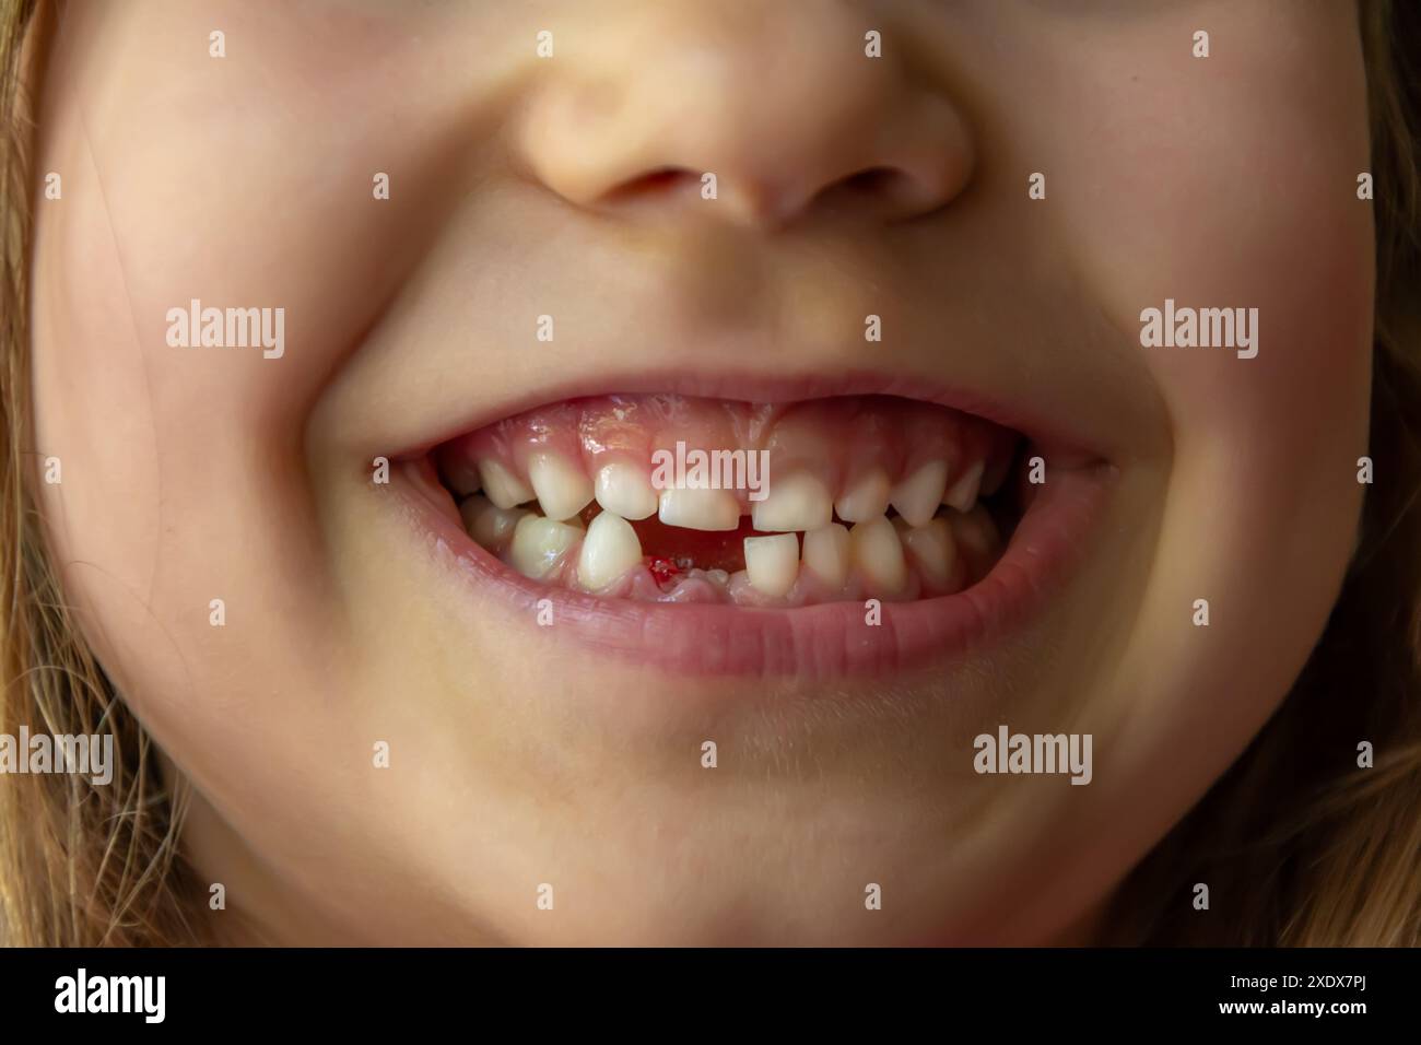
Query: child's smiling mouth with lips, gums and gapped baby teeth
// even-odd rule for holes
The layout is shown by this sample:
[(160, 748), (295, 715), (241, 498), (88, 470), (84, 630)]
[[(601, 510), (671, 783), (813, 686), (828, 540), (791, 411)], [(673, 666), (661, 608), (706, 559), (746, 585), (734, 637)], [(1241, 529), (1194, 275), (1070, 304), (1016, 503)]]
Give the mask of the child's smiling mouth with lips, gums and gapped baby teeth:
[(945, 402), (580, 395), (394, 455), (423, 530), (530, 627), (701, 674), (961, 655), (1030, 617), (1114, 468)]

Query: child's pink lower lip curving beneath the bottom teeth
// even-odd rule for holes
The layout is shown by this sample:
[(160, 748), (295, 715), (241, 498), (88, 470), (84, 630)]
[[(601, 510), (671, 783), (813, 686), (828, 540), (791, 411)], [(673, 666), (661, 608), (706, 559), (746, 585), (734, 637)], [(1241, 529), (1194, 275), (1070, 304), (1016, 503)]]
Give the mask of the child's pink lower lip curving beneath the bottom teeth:
[[(797, 680), (897, 674), (931, 667), (1009, 637), (1060, 589), (1083, 554), (1091, 523), (1114, 486), (1108, 465), (1059, 471), (1017, 525), (992, 573), (938, 599), (882, 603), (868, 624), (864, 603), (789, 610), (661, 604), (554, 589), (529, 580), (480, 547), (405, 478), (411, 522), (441, 569), (506, 607), (509, 620), (637, 665), (686, 675)], [(541, 606), (540, 606), (541, 604)], [(551, 611), (553, 627), (539, 627)]]

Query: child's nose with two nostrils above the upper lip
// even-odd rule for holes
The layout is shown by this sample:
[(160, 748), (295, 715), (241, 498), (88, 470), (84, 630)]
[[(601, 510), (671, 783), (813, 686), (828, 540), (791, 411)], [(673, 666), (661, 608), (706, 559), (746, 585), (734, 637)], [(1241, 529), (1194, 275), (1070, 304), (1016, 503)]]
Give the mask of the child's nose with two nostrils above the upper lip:
[(627, 218), (702, 208), (780, 229), (820, 213), (911, 220), (968, 183), (973, 148), (953, 98), (911, 67), (908, 34), (875, 28), (860, 4), (635, 10), (534, 70), (517, 138), (570, 203)]

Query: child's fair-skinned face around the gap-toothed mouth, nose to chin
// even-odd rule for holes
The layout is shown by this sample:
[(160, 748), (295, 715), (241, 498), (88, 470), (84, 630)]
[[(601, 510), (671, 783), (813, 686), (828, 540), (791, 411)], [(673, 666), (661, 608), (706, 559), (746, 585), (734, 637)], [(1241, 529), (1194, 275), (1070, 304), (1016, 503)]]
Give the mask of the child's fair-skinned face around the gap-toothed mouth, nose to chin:
[[(43, 505), (88, 637), (195, 785), (200, 874), (277, 937), (1080, 924), (1283, 700), (1351, 550), (1354, 23), (1330, 0), (67, 7), (37, 154), (63, 179), (37, 205)], [(169, 344), (193, 300), (284, 310), (280, 345)], [(1256, 320), (1144, 347), (1167, 300)], [(909, 527), (864, 522), (817, 552), (844, 597), (756, 610), (516, 580), (458, 526), (460, 461), (405, 463), (658, 391), (907, 397), (851, 401), (881, 444), (824, 402), (632, 427), (800, 418), (783, 446), (834, 495), (935, 425), (1002, 435), (973, 412), (1044, 485), (1016, 462), (1036, 499), (976, 583), (929, 597), (908, 556), (902, 586)], [(507, 427), (513, 466), (576, 446), (573, 414)], [(1088, 783), (976, 772), (999, 727), (1090, 734)]]

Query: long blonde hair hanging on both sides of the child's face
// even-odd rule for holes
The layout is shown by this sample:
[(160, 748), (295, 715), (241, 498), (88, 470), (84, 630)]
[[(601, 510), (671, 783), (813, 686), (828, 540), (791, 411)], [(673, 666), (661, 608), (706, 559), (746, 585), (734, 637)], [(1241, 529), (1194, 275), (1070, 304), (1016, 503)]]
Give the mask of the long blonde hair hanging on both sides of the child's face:
[[(114, 734), (109, 786), (0, 776), (0, 943), (206, 941), (178, 854), (183, 793), (85, 644), (33, 493), (24, 84), (44, 60), (37, 0), (0, 0), (0, 734)], [(1326, 634), (1233, 769), (1131, 873), (1113, 943), (1421, 943), (1421, 11), (1363, 0), (1377, 198), (1377, 333), (1361, 539)], [(1405, 41), (1405, 43), (1404, 43)], [(1363, 694), (1358, 700), (1357, 694)], [(1353, 738), (1376, 745), (1358, 769)], [(1214, 916), (1188, 903), (1209, 883)]]

